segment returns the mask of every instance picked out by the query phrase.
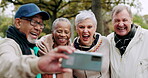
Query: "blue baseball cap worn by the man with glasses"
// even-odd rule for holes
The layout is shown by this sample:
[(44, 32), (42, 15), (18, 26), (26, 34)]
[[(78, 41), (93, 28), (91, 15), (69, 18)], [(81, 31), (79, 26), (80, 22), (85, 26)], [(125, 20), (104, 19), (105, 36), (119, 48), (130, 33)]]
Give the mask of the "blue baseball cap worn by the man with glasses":
[(34, 16), (36, 14), (40, 14), (42, 16), (43, 20), (49, 19), (49, 14), (45, 11), (41, 11), (40, 8), (34, 3), (22, 5), (17, 10), (17, 12), (15, 14), (15, 18), (31, 17), (31, 16)]

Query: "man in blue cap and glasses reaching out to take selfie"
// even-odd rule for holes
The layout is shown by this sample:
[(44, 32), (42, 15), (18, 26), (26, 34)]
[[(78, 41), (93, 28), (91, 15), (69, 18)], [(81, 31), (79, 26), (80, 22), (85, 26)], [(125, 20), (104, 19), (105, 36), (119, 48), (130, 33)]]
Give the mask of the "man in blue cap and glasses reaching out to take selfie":
[(0, 78), (35, 78), (38, 73), (69, 72), (59, 59), (68, 59), (62, 52), (72, 53), (70, 46), (58, 46), (42, 57), (35, 56), (35, 43), (48, 20), (47, 12), (34, 3), (22, 5), (9, 26), (7, 38), (0, 41)]

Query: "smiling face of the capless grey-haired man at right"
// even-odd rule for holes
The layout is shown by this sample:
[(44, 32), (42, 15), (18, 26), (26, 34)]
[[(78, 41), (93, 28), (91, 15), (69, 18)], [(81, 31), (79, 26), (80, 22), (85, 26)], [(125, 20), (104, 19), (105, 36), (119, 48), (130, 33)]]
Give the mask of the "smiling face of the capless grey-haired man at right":
[(125, 36), (130, 32), (132, 18), (130, 17), (127, 10), (123, 10), (116, 15), (114, 14), (112, 19), (116, 34)]

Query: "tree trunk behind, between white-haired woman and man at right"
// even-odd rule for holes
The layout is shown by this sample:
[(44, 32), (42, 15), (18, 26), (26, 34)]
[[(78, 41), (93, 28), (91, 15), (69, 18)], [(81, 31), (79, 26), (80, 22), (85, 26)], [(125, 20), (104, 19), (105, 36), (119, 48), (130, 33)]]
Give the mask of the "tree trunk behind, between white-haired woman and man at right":
[(92, 11), (94, 12), (97, 19), (97, 32), (104, 35), (101, 0), (92, 0)]

